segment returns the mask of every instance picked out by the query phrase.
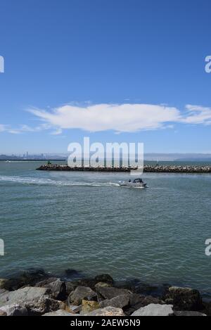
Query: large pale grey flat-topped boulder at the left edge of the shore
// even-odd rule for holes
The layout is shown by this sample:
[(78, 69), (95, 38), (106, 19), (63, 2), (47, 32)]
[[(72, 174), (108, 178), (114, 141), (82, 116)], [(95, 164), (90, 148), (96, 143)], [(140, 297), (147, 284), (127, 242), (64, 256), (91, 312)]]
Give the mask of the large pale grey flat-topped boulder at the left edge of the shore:
[(0, 307), (28, 301), (39, 300), (49, 293), (48, 288), (32, 288), (26, 286), (17, 291), (0, 291)]

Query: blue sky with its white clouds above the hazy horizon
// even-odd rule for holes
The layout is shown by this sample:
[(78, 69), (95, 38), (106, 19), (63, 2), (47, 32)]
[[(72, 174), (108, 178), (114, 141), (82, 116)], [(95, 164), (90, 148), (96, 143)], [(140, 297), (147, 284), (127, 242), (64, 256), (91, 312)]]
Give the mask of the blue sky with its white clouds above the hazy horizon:
[(1, 0), (0, 153), (211, 153), (210, 0)]

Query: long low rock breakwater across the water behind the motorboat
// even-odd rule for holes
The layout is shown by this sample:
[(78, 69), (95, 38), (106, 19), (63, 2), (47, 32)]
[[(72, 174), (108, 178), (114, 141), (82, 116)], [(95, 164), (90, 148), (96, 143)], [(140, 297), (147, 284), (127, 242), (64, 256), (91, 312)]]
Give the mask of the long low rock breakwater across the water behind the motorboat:
[[(64, 172), (131, 172), (137, 168), (130, 167), (69, 167), (68, 165), (46, 164), (37, 168), (39, 171)], [(211, 174), (211, 166), (196, 165), (144, 165), (143, 173), (186, 173)]]

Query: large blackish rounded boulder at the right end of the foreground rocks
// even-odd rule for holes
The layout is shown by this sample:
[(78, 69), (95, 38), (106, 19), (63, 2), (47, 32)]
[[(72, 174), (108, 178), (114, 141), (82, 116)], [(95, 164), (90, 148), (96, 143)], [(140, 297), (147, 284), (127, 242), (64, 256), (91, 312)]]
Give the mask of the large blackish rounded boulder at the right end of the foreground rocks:
[(165, 302), (174, 305), (174, 310), (203, 310), (200, 293), (192, 288), (170, 287), (165, 296)]

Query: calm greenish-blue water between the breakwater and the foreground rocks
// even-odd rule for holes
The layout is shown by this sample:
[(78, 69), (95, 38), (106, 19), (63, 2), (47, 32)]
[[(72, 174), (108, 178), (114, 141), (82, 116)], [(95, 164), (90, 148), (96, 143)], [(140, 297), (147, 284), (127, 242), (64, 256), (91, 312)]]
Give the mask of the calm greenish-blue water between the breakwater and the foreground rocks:
[(211, 292), (211, 175), (39, 172), (41, 163), (0, 162), (0, 277), (29, 267), (108, 272), (151, 284)]

